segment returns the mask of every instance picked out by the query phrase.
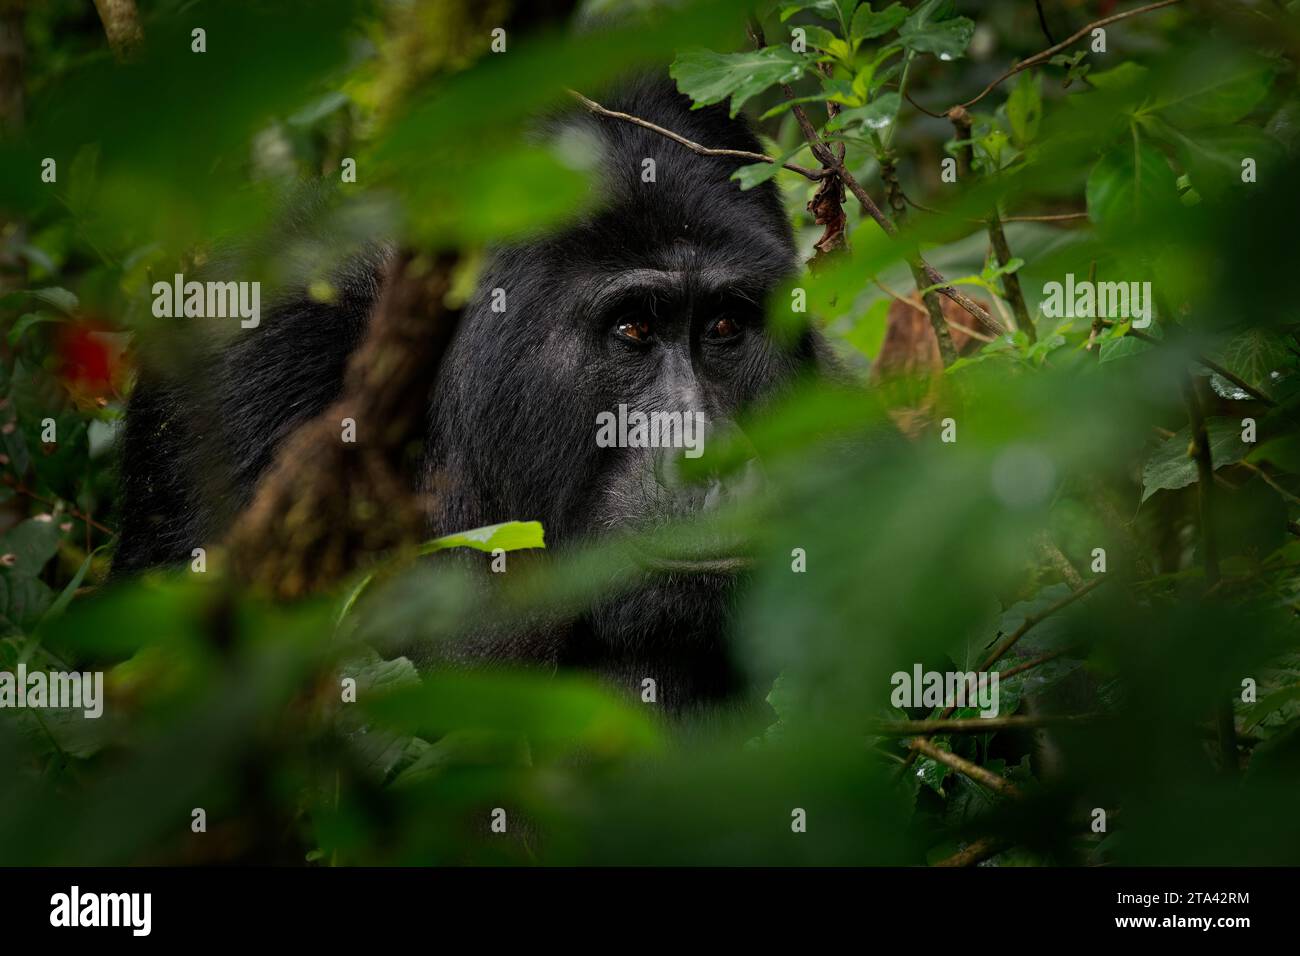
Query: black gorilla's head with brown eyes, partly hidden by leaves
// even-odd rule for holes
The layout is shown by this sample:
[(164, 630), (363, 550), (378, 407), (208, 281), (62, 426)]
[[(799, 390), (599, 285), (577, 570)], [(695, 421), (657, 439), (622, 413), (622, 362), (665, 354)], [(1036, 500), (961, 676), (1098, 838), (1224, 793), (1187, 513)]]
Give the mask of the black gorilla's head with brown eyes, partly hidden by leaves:
[[(692, 111), (666, 83), (608, 105), (696, 142), (758, 150), (742, 124)], [(733, 433), (745, 408), (820, 358), (815, 336), (783, 346), (766, 328), (764, 300), (796, 268), (772, 183), (741, 191), (729, 181), (734, 160), (612, 120), (589, 127), (602, 147), (598, 212), (499, 251), (443, 363), (429, 463), (437, 533), (538, 519), (547, 546), (563, 549), (714, 509), (751, 489), (757, 464), (685, 484), (682, 457)], [(681, 423), (677, 441), (601, 441), (602, 421), (637, 414), (650, 433), (656, 414), (670, 436)], [(560, 662), (633, 685), (671, 674), (676, 693), (666, 693), (679, 701), (725, 693), (720, 639), (741, 550), (702, 537), (640, 554), (634, 593), (563, 635)]]

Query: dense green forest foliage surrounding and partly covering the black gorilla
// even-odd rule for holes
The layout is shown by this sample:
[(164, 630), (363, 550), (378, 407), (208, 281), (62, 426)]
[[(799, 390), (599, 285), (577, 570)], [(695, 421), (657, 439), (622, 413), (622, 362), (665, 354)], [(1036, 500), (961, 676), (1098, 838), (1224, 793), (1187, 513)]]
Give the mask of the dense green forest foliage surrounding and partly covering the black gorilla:
[[(1124, 18), (1106, 52), (1082, 39), (985, 96), (1048, 46), (1032, 5), (779, 3), (755, 48), (737, 46), (736, 3), (602, 3), (599, 30), (511, 33), (489, 55), (473, 4), (443, 4), (463, 14), (447, 29), (476, 39), (406, 62), (408, 7), (142, 4), (147, 49), (127, 64), (88, 4), (29, 18), (26, 126), (0, 144), (0, 669), (104, 670), (108, 701), (99, 721), (0, 710), (0, 862), (924, 864), (985, 835), (1011, 840), (993, 857), (1008, 865), (1297, 862), (1300, 313), (1286, 276), (1300, 103), (1282, 5)], [(439, 5), (416, 7), (437, 20)], [(200, 16), (203, 57), (187, 52)], [(218, 566), (108, 580), (126, 350), (159, 332), (153, 276), (257, 234), (295, 182), (344, 156), (367, 174), (325, 206), (329, 242), (270, 256), (268, 276), (298, 281), (295, 264), (377, 235), (474, 260), (586, 195), (584, 144), (540, 144), (530, 116), (645, 62), (671, 62), (698, 105), (749, 113), (772, 159), (818, 168), (793, 116), (806, 108), (878, 202), (888, 166), (924, 207), (885, 206), (892, 239), (850, 198), (849, 247), (793, 284), (809, 312), (790, 315), (788, 289), (770, 307), (777, 330), (816, 323), (857, 378), (746, 425), (771, 494), (719, 520), (757, 557), (731, 635), (754, 700), (668, 722), (580, 674), (421, 678), (402, 656), (465, 622), (616, 594), (599, 549), (490, 605), (425, 563), (287, 607)], [(968, 133), (911, 101), (965, 101)], [(966, 150), (970, 169), (945, 182), (941, 160)], [(774, 163), (734, 178), (775, 179), (811, 256), (818, 183)], [(993, 211), (1011, 261), (988, 251)], [(1014, 221), (1070, 212), (1086, 219)], [(1009, 330), (937, 381), (868, 385), (881, 286), (911, 286), (911, 248)], [(1067, 273), (1150, 282), (1152, 328), (1049, 317), (1044, 286)], [(1036, 336), (1009, 319), (1013, 274)], [(900, 429), (918, 405), (920, 425)], [(746, 454), (712, 447), (702, 466)], [(515, 518), (426, 550), (543, 546)], [(944, 710), (894, 706), (893, 674), (975, 670), (1022, 631), (997, 662), (1015, 670), (1002, 715), (1063, 698), (1095, 719), (1054, 726), (1053, 760), (1017, 728), (931, 736), (1019, 796), (885, 732)], [(1225, 750), (1214, 717), (1228, 706)], [(196, 806), (207, 834), (191, 832)], [(508, 835), (489, 832), (494, 808), (519, 822)], [(806, 832), (792, 834), (794, 808)]]

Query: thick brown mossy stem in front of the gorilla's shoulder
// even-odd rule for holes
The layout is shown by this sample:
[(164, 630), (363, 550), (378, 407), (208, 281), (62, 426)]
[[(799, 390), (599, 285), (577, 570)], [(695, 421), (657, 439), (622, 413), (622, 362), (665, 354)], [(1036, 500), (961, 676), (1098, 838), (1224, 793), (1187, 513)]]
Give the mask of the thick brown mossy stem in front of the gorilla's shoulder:
[[(389, 263), (342, 394), (285, 442), (226, 538), (244, 581), (298, 598), (416, 544), (425, 509), (404, 462), (459, 320), (446, 304), (456, 261), (400, 252)], [(355, 441), (342, 440), (348, 420)]]

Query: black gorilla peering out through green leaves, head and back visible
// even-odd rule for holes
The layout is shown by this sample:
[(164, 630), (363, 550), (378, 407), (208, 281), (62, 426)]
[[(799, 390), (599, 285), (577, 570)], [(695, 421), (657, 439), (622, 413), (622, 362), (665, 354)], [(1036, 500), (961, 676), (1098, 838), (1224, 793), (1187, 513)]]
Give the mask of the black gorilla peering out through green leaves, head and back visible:
[[(629, 81), (606, 105), (710, 147), (760, 151), (742, 120), (692, 109), (663, 79)], [(741, 160), (588, 112), (547, 126), (593, 134), (601, 202), (491, 254), (433, 382), (411, 476), (428, 492), (429, 536), (537, 519), (554, 550), (712, 509), (742, 494), (754, 467), (688, 484), (680, 449), (599, 446), (598, 415), (620, 405), (698, 414), (707, 434), (734, 432), (742, 410), (831, 362), (815, 332), (779, 341), (766, 326), (766, 297), (797, 269), (774, 182), (742, 191), (729, 179)], [(114, 574), (185, 562), (220, 540), (286, 436), (339, 394), (389, 255), (374, 247), (346, 263), (329, 303), (306, 291), (277, 300), (257, 328), (200, 346), (183, 372), (142, 360)], [(493, 290), (504, 291), (504, 311), (493, 310)], [(220, 460), (205, 447), (221, 449)], [(725, 698), (742, 685), (724, 641), (738, 576), (725, 558), (647, 568), (634, 593), (494, 640), (485, 656), (588, 669), (630, 688), (651, 676), (675, 710)]]

